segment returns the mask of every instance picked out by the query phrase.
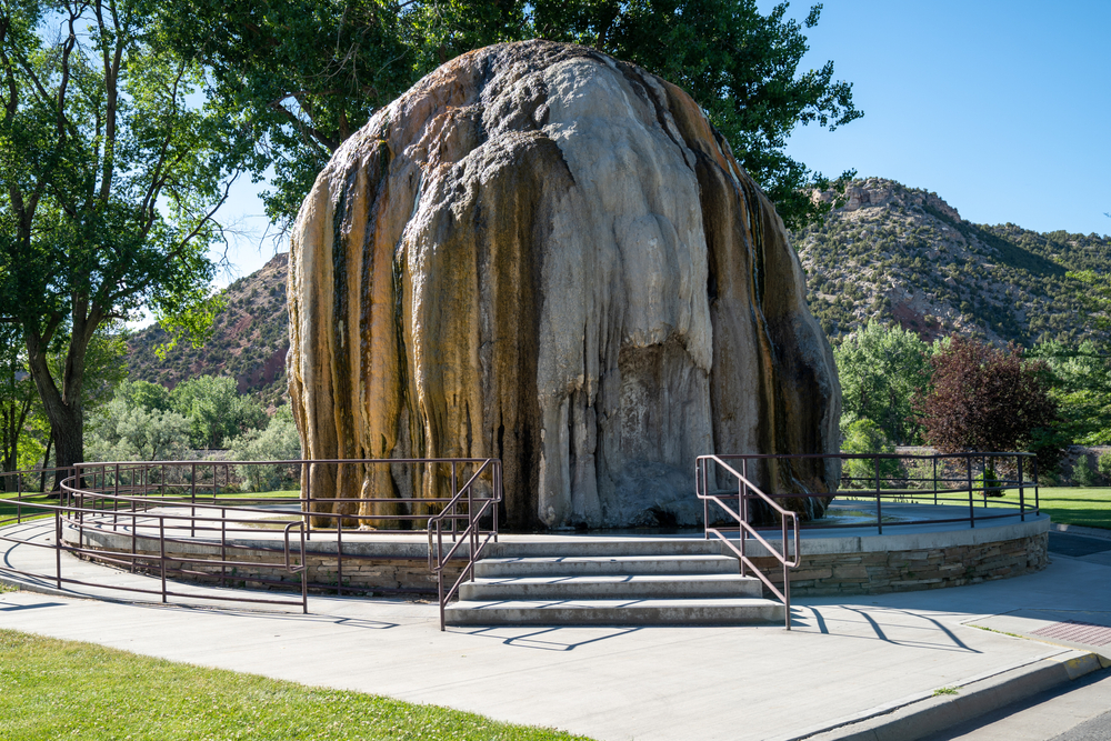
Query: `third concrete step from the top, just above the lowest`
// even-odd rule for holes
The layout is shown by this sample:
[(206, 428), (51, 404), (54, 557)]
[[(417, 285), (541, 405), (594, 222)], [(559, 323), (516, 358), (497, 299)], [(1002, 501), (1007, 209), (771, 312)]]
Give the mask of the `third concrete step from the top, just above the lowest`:
[(479, 600), (579, 600), (761, 597), (760, 580), (735, 573), (597, 574), (476, 579), (459, 598)]

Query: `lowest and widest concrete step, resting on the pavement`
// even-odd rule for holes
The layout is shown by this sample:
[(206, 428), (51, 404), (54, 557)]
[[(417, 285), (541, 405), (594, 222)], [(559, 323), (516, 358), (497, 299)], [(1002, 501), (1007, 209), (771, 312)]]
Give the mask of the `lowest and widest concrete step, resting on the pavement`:
[(782, 623), (780, 602), (759, 598), (459, 601), (449, 625), (753, 625)]

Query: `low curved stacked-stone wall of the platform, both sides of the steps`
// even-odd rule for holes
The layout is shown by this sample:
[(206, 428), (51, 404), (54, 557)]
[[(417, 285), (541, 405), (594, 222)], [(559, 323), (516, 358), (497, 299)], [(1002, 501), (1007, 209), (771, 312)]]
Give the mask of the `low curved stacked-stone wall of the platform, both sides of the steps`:
[[(891, 528), (897, 534), (827, 537), (825, 533), (819, 535), (810, 531), (802, 539), (801, 563), (791, 571), (791, 594), (882, 594), (961, 587), (1032, 573), (1049, 563), (1049, 528), (1048, 517), (1029, 515), (1025, 522), (933, 532), (900, 533), (898, 528)], [(74, 544), (79, 539), (72, 528), (67, 530), (64, 538)], [(80, 540), (84, 548), (100, 551), (130, 552), (132, 544), (129, 534), (111, 531), (86, 530)], [(269, 585), (271, 589), (300, 590), (300, 574), (286, 572), (280, 541), (251, 539), (237, 542), (243, 548), (229, 549), (228, 560), (250, 561), (251, 564), (228, 567), (222, 579), (220, 567), (206, 563), (220, 558), (220, 545), (210, 542), (172, 542), (170, 555), (183, 558), (168, 563), (168, 567), (184, 571), (173, 574), (177, 579), (266, 588), (249, 580), (250, 577), (259, 577), (276, 582)], [(732, 554), (724, 543), (701, 542), (709, 549), (720, 547), (720, 552), (725, 555)], [(778, 548), (777, 541), (771, 543)], [(536, 545), (539, 543), (532, 547)], [(574, 549), (570, 542), (559, 543), (559, 547)], [(546, 552), (554, 552), (551, 544), (542, 548)], [(782, 584), (783, 571), (779, 562), (755, 541), (750, 541), (747, 548), (757, 567), (773, 583)], [(340, 572), (336, 541), (311, 540), (306, 543), (306, 550), (310, 591), (334, 592)], [(136, 551), (157, 555), (158, 540), (139, 537)], [(526, 552), (520, 545), (501, 542), (491, 543), (489, 554), (523, 555)], [(444, 570), (446, 584), (454, 583), (462, 573), (467, 563), (466, 544), (458, 555), (462, 557), (459, 563), (449, 564)], [(428, 568), (428, 544), (423, 542), (344, 539), (342, 575), (344, 589), (364, 592), (434, 594), (437, 591), (436, 574)]]

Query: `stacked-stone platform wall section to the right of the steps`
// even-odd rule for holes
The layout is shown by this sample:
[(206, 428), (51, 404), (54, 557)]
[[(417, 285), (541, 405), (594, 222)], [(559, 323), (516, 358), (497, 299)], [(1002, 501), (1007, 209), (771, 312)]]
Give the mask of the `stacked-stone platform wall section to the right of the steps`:
[[(791, 571), (791, 595), (882, 594), (962, 587), (1041, 571), (1048, 534), (988, 543), (899, 551), (807, 554)], [(783, 568), (771, 557), (753, 562), (781, 587)]]

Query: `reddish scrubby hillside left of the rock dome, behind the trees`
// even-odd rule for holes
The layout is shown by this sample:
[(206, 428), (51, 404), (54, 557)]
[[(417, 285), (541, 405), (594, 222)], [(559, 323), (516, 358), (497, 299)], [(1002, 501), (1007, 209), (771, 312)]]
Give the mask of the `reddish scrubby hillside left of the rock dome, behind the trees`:
[(287, 393), (288, 270), (289, 254), (277, 254), (258, 272), (229, 286), (222, 294), (226, 308), (202, 348), (180, 342), (160, 360), (154, 348), (166, 342), (166, 332), (157, 324), (137, 332), (128, 343), (130, 378), (172, 389), (192, 375), (231, 375), (240, 393), (257, 393), (264, 404), (277, 402)]

